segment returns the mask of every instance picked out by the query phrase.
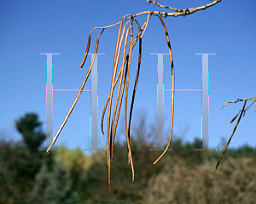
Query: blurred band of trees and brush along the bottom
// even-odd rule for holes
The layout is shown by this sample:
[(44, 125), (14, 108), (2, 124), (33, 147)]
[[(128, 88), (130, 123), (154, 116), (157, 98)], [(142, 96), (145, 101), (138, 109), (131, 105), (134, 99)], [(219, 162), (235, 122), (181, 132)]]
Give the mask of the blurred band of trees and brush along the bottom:
[[(44, 156), (42, 122), (34, 113), (15, 122), (22, 141), (0, 141), (0, 203), (254, 203), (256, 149), (247, 145), (228, 149), (214, 169), (222, 150), (195, 151), (201, 141), (183, 144), (173, 137), (166, 155), (153, 165), (159, 151), (150, 151), (154, 125), (141, 116), (132, 129), (131, 151), (135, 181), (131, 182), (126, 144), (117, 142), (112, 161), (112, 191), (108, 190), (106, 151), (90, 156), (83, 150), (59, 151)], [(176, 138), (176, 139), (175, 139)], [(224, 145), (223, 145), (224, 147)]]

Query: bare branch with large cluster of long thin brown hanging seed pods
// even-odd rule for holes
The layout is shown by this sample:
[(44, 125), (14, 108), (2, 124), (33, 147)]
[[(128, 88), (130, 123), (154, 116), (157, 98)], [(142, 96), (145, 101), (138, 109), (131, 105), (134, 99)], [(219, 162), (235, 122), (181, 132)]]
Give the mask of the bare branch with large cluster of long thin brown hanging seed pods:
[[(148, 3), (153, 3), (150, 0), (147, 0)], [(136, 89), (137, 89), (137, 82), (138, 82), (138, 77), (139, 77), (139, 72), (140, 72), (140, 65), (141, 65), (141, 56), (142, 56), (142, 41), (143, 41), (143, 35), (147, 29), (148, 26), (148, 21), (151, 18), (151, 16), (156, 16), (160, 19), (160, 23), (164, 28), (164, 31), (166, 33), (166, 42), (167, 42), (167, 47), (168, 47), (168, 52), (169, 52), (169, 58), (171, 62), (171, 70), (172, 70), (172, 111), (171, 111), (171, 130), (170, 130), (170, 136), (169, 136), (169, 141), (168, 144), (166, 145), (166, 150), (168, 150), (171, 140), (172, 140), (172, 129), (173, 129), (173, 112), (174, 112), (174, 66), (173, 66), (173, 60), (172, 60), (172, 48), (171, 48), (171, 43), (170, 43), (170, 38), (166, 29), (166, 25), (164, 23), (164, 20), (162, 17), (166, 18), (167, 16), (185, 16), (189, 14), (195, 13), (195, 11), (198, 10), (203, 10), (208, 7), (211, 7), (215, 5), (216, 3), (220, 2), (221, 0), (215, 0), (212, 3), (208, 3), (204, 6), (197, 7), (197, 8), (188, 8), (188, 9), (177, 9), (177, 8), (170, 8), (166, 7), (164, 5), (160, 5), (157, 3), (157, 0), (154, 0), (154, 5), (159, 6), (160, 8), (168, 8), (174, 10), (172, 13), (166, 13), (166, 12), (159, 12), (159, 11), (145, 11), (139, 14), (135, 15), (125, 15), (118, 23), (111, 25), (111, 26), (105, 26), (105, 27), (95, 27), (92, 31), (90, 31), (89, 37), (88, 37), (88, 42), (87, 42), (87, 48), (84, 54), (84, 60), (82, 64), (80, 65), (80, 69), (84, 66), (84, 62), (87, 59), (89, 49), (90, 49), (90, 37), (91, 33), (95, 31), (96, 29), (101, 29), (101, 33), (99, 36), (96, 38), (96, 47), (93, 55), (93, 59), (91, 60), (89, 70), (87, 71), (87, 74), (84, 78), (84, 82), (79, 89), (79, 93), (77, 94), (76, 98), (73, 101), (73, 105), (71, 106), (70, 110), (67, 113), (66, 118), (61, 124), (61, 127), (59, 128), (58, 132), (55, 134), (55, 138), (49, 144), (48, 149), (46, 150), (46, 153), (48, 154), (53, 145), (55, 144), (56, 139), (58, 138), (59, 134), (61, 133), (61, 129), (64, 127), (65, 123), (67, 122), (68, 117), (70, 116), (71, 112), (73, 111), (74, 106), (76, 105), (80, 94), (82, 93), (84, 89), (85, 82), (87, 81), (90, 71), (92, 66), (94, 65), (95, 59), (96, 59), (96, 54), (99, 46), (99, 40), (102, 35), (102, 32), (110, 27), (113, 26), (118, 26), (119, 25), (119, 33), (117, 37), (117, 42), (115, 46), (115, 52), (114, 52), (114, 57), (113, 57), (113, 76), (112, 76), (112, 81), (111, 81), (111, 88), (110, 88), (110, 93), (108, 94), (108, 99), (106, 101), (106, 104), (104, 106), (103, 112), (102, 112), (102, 133), (104, 134), (103, 131), (103, 119), (105, 116), (105, 112), (108, 107), (108, 127), (107, 127), (107, 157), (108, 157), (108, 184), (109, 184), (109, 190), (111, 191), (111, 182), (110, 182), (110, 169), (111, 169), (111, 158), (113, 159), (113, 147), (114, 147), (114, 139), (115, 139), (115, 134), (116, 134), (116, 128), (119, 122), (119, 111), (122, 105), (122, 99), (124, 96), (125, 92), (125, 135), (127, 139), (127, 147), (128, 147), (128, 162), (131, 163), (131, 172), (132, 172), (132, 181), (134, 180), (134, 167), (133, 167), (133, 161), (132, 161), (132, 154), (131, 154), (131, 145), (130, 145), (130, 130), (131, 130), (131, 115), (132, 115), (132, 108), (133, 108), (133, 102), (135, 99), (135, 94), (136, 94)], [(143, 23), (143, 26), (140, 26), (140, 24), (137, 22), (136, 17), (139, 15), (147, 14), (147, 20)], [(137, 25), (137, 37), (133, 36), (134, 33), (134, 25)], [(127, 94), (128, 94), (128, 86), (129, 86), (129, 79), (130, 79), (130, 66), (131, 66), (131, 54), (132, 50), (135, 47), (136, 43), (138, 42), (138, 61), (137, 61), (137, 76), (136, 80), (134, 83), (133, 87), (133, 94), (132, 94), (132, 99), (131, 99), (131, 107), (130, 107), (130, 112), (129, 112), (129, 120), (127, 122)], [(123, 47), (123, 55), (121, 56), (121, 48)], [(122, 60), (121, 67), (119, 68), (118, 71), (118, 65), (119, 65), (119, 59)], [(112, 110), (112, 102), (113, 102), (113, 89), (116, 88), (116, 85), (119, 81), (119, 87), (118, 87), (118, 94), (115, 100), (115, 105), (113, 109), (113, 116), (111, 116), (111, 110)], [(111, 121), (111, 124), (110, 124)], [(154, 164), (160, 160), (162, 156), (165, 155), (166, 150), (159, 156), (159, 158), (154, 161)], [(45, 153), (45, 154), (46, 154)]]

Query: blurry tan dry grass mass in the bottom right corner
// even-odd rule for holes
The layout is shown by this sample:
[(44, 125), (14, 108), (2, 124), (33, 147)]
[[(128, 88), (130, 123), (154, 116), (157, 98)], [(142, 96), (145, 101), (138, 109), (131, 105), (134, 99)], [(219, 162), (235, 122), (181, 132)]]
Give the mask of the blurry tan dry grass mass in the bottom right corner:
[(216, 176), (213, 165), (189, 167), (171, 159), (162, 173), (149, 179), (143, 203), (255, 203), (255, 159), (227, 156)]

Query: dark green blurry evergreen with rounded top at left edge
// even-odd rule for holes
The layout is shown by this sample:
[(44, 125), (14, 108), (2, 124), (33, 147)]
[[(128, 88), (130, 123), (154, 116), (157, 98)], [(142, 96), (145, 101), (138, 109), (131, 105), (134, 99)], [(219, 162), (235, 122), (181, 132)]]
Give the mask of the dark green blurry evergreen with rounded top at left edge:
[(42, 161), (51, 167), (52, 156), (43, 158), (44, 152), (38, 151), (46, 138), (41, 126), (42, 122), (38, 121), (36, 114), (26, 114), (15, 121), (22, 140), (1, 145), (0, 179), (5, 187), (1, 188), (0, 197), (4, 195), (4, 203), (26, 203)]

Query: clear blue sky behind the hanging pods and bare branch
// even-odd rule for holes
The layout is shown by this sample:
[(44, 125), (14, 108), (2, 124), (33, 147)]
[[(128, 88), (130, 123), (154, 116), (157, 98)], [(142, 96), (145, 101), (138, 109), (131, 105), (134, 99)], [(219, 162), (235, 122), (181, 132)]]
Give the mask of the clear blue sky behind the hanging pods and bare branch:
[[(209, 1), (158, 1), (174, 8), (193, 8)], [(169, 3), (169, 4), (168, 4)], [(242, 102), (227, 101), (256, 96), (256, 3), (223, 0), (217, 5), (186, 17), (165, 19), (171, 37), (174, 58), (176, 88), (201, 88), (201, 55), (215, 53), (209, 57), (209, 145), (218, 148), (221, 137), (228, 141), (235, 123), (230, 120), (241, 110)], [(78, 89), (84, 81), (89, 63), (79, 71), (84, 58), (87, 38), (95, 26), (109, 26), (118, 22), (125, 14), (137, 14), (147, 10), (160, 10), (146, 0), (113, 1), (9, 1), (0, 2), (0, 132), (1, 137), (20, 139), (15, 131), (15, 120), (27, 112), (38, 114), (46, 121), (45, 55), (60, 53), (53, 57), (54, 88)], [(143, 24), (146, 15), (137, 20)], [(94, 50), (98, 31), (92, 34), (90, 53)], [(100, 39), (98, 57), (99, 111), (98, 126), (103, 105), (107, 99), (113, 66), (113, 53), (118, 27), (107, 29)], [(136, 48), (135, 48), (136, 49)], [(134, 108), (134, 123), (140, 111), (146, 111), (148, 123), (156, 122), (156, 63), (154, 53), (168, 53), (165, 32), (160, 20), (151, 17), (143, 37), (143, 56), (137, 96)], [(137, 51), (134, 53), (136, 63)], [(90, 61), (90, 58), (89, 60)], [(165, 88), (171, 88), (169, 59), (165, 61)], [(131, 67), (131, 84), (137, 66)], [(90, 83), (85, 85), (90, 88)], [(132, 89), (132, 86), (130, 87)], [(54, 93), (54, 135), (61, 125), (77, 93)], [(249, 103), (247, 103), (249, 105)], [(165, 131), (169, 132), (171, 117), (171, 94), (165, 94)], [(230, 148), (243, 144), (256, 145), (256, 115), (251, 107), (233, 137)], [(121, 117), (124, 111), (121, 112)], [(120, 126), (121, 126), (120, 119)], [(107, 121), (105, 121), (105, 124)], [(136, 124), (135, 124), (136, 125)], [(187, 131), (184, 133), (184, 130)], [(105, 131), (107, 128), (105, 127)], [(98, 129), (102, 147), (106, 138)], [(174, 135), (192, 142), (201, 139), (201, 93), (176, 93), (174, 113)], [(124, 136), (122, 136), (124, 137)], [(174, 139), (174, 138), (173, 138)], [(70, 148), (90, 147), (90, 94), (83, 93), (66, 127), (56, 144), (64, 142)]]

